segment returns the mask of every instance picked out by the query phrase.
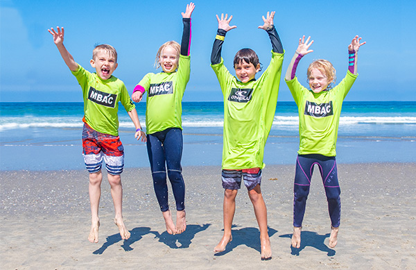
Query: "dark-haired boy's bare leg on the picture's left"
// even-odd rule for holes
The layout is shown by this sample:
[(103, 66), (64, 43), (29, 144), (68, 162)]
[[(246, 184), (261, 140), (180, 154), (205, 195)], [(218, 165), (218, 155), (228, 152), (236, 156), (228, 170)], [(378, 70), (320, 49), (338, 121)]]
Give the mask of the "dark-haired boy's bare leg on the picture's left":
[(225, 189), (223, 205), (224, 235), (218, 245), (214, 248), (214, 253), (225, 251), (225, 246), (232, 240), (231, 227), (234, 213), (236, 212), (237, 192), (237, 189)]

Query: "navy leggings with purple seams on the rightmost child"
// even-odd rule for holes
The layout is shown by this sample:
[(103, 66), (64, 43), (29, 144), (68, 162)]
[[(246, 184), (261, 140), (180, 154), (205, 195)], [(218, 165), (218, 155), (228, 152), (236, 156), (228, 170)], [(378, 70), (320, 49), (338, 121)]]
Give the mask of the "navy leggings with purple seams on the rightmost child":
[(338, 173), (336, 169), (335, 157), (325, 155), (310, 154), (297, 155), (295, 185), (293, 198), (293, 226), (301, 227), (305, 214), (306, 199), (308, 199), (313, 165), (318, 164), (322, 183), (324, 184), (325, 194), (327, 194), (329, 217), (333, 227), (340, 226), (341, 214), (341, 189), (338, 184)]

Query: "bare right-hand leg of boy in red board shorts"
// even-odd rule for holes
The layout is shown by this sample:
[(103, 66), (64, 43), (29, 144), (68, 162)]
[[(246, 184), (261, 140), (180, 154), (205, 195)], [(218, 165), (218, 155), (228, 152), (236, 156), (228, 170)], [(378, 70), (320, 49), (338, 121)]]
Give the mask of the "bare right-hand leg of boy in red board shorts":
[(113, 176), (108, 174), (108, 182), (111, 187), (111, 196), (114, 203), (114, 212), (116, 215), (114, 217), (114, 223), (119, 228), (121, 239), (129, 239), (130, 232), (125, 228), (122, 214), (122, 205), (123, 205), (123, 187), (121, 186), (121, 176)]

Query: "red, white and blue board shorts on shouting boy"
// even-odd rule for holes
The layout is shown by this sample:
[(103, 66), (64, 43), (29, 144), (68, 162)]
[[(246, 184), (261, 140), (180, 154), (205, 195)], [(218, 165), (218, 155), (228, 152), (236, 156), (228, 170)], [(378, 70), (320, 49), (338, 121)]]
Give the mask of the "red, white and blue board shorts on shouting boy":
[(83, 128), (83, 156), (90, 174), (101, 171), (103, 160), (107, 172), (119, 175), (124, 168), (124, 147), (120, 137), (100, 133), (86, 123)]

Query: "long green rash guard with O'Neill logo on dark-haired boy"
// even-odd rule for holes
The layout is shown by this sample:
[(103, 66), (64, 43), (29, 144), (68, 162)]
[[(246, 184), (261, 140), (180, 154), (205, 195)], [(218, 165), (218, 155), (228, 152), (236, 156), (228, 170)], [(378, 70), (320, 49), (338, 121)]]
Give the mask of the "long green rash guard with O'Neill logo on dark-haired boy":
[(275, 117), (284, 53), (272, 51), (268, 69), (256, 81), (241, 83), (224, 60), (211, 65), (224, 95), (223, 169), (261, 168)]

